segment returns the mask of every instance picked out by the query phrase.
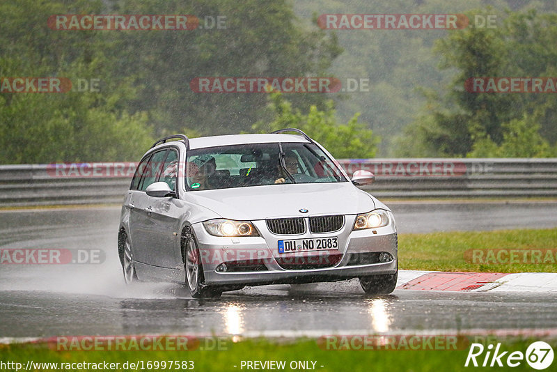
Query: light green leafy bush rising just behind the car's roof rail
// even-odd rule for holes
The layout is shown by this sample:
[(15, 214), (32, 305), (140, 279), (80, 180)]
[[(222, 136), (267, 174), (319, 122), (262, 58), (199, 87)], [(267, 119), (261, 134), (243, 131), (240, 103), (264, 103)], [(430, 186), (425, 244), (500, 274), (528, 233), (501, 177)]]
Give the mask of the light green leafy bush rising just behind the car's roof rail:
[(268, 124), (258, 122), (253, 125), (252, 129), (256, 132), (268, 133), (295, 127), (322, 144), (338, 159), (375, 157), (379, 138), (366, 125), (358, 123), (359, 113), (354, 114), (346, 124), (339, 124), (331, 100), (325, 102), (326, 109), (320, 110), (312, 105), (307, 114), (293, 108), (280, 93), (270, 93), (269, 101), (274, 119)]

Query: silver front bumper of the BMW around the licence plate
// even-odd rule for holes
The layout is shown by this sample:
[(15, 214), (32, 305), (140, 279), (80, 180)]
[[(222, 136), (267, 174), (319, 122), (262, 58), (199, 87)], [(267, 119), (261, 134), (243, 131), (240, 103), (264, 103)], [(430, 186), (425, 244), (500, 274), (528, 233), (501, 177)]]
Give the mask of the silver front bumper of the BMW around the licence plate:
[[(313, 267), (310, 263), (303, 270), (290, 270), (281, 266), (278, 261), (284, 256), (276, 252), (276, 242), (280, 239), (288, 239), (285, 236), (271, 235), (266, 232), (264, 226), (257, 226), (261, 237), (249, 238), (225, 238), (209, 235), (202, 224), (194, 224), (194, 232), (198, 240), (203, 273), (207, 285), (262, 285), (262, 284), (301, 284), (314, 281), (337, 281), (352, 279), (373, 274), (394, 274), (398, 270), (398, 242), (394, 226), (385, 226), (371, 230), (352, 231), (343, 228), (334, 234), (338, 236), (341, 243), (335, 256), (339, 256), (334, 264), (327, 268)], [(326, 234), (327, 235), (327, 234)], [(305, 235), (297, 238), (316, 238), (315, 235)], [(270, 247), (269, 247), (270, 246)], [(274, 249), (272, 248), (274, 247)], [(387, 262), (363, 262), (354, 260), (359, 254), (374, 254), (386, 252), (391, 255), (391, 261)], [(315, 252), (317, 253), (317, 252)], [(290, 258), (314, 258), (320, 262), (331, 251), (323, 251), (320, 254), (290, 254)], [(325, 254), (323, 256), (323, 254)], [(250, 261), (260, 263), (257, 271), (242, 270), (241, 272), (219, 272), (217, 267), (221, 263), (230, 261)]]

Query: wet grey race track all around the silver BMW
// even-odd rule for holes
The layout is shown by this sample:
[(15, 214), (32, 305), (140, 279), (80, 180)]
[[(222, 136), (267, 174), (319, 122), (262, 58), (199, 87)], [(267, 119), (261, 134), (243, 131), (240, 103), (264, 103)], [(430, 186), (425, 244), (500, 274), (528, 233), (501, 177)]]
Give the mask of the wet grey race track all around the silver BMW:
[[(400, 233), (557, 226), (557, 203), (389, 203)], [(97, 265), (0, 265), (0, 338), (79, 334), (269, 336), (557, 328), (557, 295), (395, 290), (358, 281), (262, 286), (194, 300), (177, 284), (125, 286), (119, 208), (0, 212), (0, 248), (100, 249)], [(552, 217), (553, 216), (553, 217)]]

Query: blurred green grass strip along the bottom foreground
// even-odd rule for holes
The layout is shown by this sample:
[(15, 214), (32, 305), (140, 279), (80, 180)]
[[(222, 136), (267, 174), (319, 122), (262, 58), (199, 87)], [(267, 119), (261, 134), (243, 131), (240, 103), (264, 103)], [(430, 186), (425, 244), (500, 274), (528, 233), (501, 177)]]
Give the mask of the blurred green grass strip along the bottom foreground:
[[(400, 339), (399, 339), (400, 340)], [(531, 340), (517, 340), (517, 341), (492, 341), (484, 339), (493, 344), (501, 342), (500, 351), (508, 351), (501, 362), (505, 364), (506, 357), (513, 351), (519, 351), (526, 354), (528, 346), (533, 341), (540, 341), (539, 339)], [(552, 348), (556, 348), (557, 343), (555, 340), (547, 341)], [(34, 363), (57, 363), (56, 370), (78, 370), (78, 371), (91, 371), (93, 368), (79, 368), (78, 363), (100, 363), (107, 362), (118, 363), (119, 368), (113, 369), (118, 371), (248, 371), (254, 368), (246, 368), (246, 361), (284, 361), (284, 371), (292, 371), (303, 369), (301, 366), (306, 366), (305, 369), (315, 369), (317, 371), (484, 371), (493, 370), (488, 367), (473, 368), (465, 367), (466, 358), (469, 354), (471, 343), (466, 343), (456, 348), (437, 348), (435, 350), (411, 350), (408, 347), (399, 350), (373, 350), (366, 348), (366, 350), (327, 350), (323, 343), (319, 343), (314, 339), (297, 339), (290, 341), (271, 341), (271, 340), (253, 340), (240, 341), (227, 344), (226, 350), (194, 350), (194, 351), (57, 351), (52, 348), (45, 348), (33, 344), (19, 344), (19, 345), (4, 345), (0, 346), (0, 360), (1, 362), (17, 362), (20, 363), (22, 369), (28, 361)], [(424, 345), (424, 343), (420, 343)], [(431, 343), (435, 345), (435, 342)], [(478, 356), (478, 362), (481, 365), (485, 358), (485, 352)], [(143, 361), (141, 363), (141, 361)], [(157, 361), (157, 363), (155, 363)], [(169, 361), (178, 361), (178, 368), (175, 368), (174, 362), (171, 368), (168, 368)], [(242, 366), (242, 361), (244, 365)], [(124, 368), (124, 363), (127, 362), (127, 368)], [(148, 364), (150, 362), (150, 364)], [(162, 362), (165, 363), (165, 368), (162, 368)], [(182, 364), (186, 362), (186, 364)], [(193, 363), (190, 363), (193, 362)], [(293, 363), (294, 362), (294, 363)], [(299, 364), (297, 362), (303, 362)], [(519, 360), (520, 364), (516, 368), (510, 368), (506, 365), (496, 369), (499, 371), (532, 371), (526, 360)], [(74, 369), (70, 369), (70, 365), (63, 366), (61, 363), (70, 365), (73, 364)], [(134, 368), (130, 368), (130, 363), (136, 364)], [(291, 364), (292, 363), (292, 364)], [(305, 364), (304, 364), (305, 363)], [(556, 362), (554, 362), (555, 364)], [(148, 366), (150, 368), (148, 368)], [(187, 368), (184, 368), (186, 366)], [(191, 368), (193, 366), (193, 368)], [(292, 368), (295, 366), (296, 368)], [(62, 368), (61, 368), (62, 367)], [(68, 368), (70, 367), (70, 368)], [(6, 369), (6, 368), (5, 368)], [(33, 365), (35, 371), (54, 371), (54, 366), (40, 366)], [(98, 369), (98, 368), (97, 368)], [(259, 368), (262, 369), (262, 368)], [(12, 369), (15, 370), (15, 369)], [(549, 369), (551, 370), (551, 368)], [(107, 369), (104, 369), (107, 371)]]

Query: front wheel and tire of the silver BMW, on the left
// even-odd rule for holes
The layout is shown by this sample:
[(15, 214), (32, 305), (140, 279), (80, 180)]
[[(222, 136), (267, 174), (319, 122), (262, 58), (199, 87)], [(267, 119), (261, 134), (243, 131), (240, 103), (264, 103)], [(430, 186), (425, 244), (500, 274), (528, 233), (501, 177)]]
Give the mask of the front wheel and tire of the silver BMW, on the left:
[(182, 233), (182, 258), (186, 272), (186, 285), (191, 297), (218, 298), (222, 290), (215, 286), (207, 286), (203, 277), (203, 264), (201, 263), (199, 247), (191, 228), (186, 228)]

